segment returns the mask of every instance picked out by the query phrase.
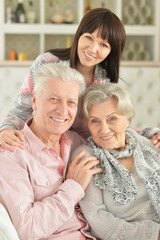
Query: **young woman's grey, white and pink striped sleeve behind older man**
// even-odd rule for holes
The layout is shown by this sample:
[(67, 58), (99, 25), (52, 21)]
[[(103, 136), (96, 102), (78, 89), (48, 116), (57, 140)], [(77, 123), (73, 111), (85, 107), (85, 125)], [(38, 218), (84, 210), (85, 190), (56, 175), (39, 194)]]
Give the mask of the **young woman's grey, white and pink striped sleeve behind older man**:
[(43, 64), (58, 63), (59, 58), (51, 53), (43, 53), (39, 55), (29, 69), (24, 79), (22, 87), (17, 95), (12, 108), (7, 116), (4, 117), (0, 125), (0, 130), (4, 128), (22, 129), (26, 120), (32, 116), (32, 92), (34, 88), (35, 73)]

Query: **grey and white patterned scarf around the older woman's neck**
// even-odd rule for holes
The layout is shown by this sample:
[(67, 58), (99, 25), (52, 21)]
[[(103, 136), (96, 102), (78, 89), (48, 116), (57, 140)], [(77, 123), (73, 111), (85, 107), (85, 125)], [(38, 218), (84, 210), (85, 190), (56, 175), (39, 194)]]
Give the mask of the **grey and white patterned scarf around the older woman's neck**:
[(132, 129), (126, 130), (126, 147), (123, 151), (105, 150), (97, 146), (92, 137), (88, 138), (94, 156), (101, 161), (104, 171), (95, 175), (95, 184), (103, 190), (112, 193), (117, 205), (134, 201), (137, 196), (137, 186), (132, 174), (117, 161), (117, 158), (127, 158), (133, 154), (134, 165), (139, 177), (146, 185), (151, 202), (157, 212), (155, 220), (160, 218), (160, 157), (149, 145), (136, 137)]

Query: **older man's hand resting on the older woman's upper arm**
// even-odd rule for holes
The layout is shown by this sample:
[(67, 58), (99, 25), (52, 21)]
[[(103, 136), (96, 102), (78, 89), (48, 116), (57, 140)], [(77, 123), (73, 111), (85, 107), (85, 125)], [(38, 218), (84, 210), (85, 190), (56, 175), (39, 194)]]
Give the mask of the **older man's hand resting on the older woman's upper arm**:
[(84, 190), (88, 187), (91, 177), (103, 171), (102, 168), (94, 168), (100, 161), (96, 157), (84, 157), (85, 151), (81, 151), (68, 165), (67, 179), (78, 182)]

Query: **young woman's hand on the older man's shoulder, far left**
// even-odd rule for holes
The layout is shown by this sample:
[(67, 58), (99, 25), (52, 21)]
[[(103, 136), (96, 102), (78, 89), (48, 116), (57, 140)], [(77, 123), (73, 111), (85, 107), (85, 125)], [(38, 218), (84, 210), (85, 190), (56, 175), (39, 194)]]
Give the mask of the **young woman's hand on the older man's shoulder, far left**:
[(22, 132), (14, 129), (3, 129), (0, 132), (0, 152), (3, 152), (5, 149), (14, 152), (14, 147), (25, 148)]

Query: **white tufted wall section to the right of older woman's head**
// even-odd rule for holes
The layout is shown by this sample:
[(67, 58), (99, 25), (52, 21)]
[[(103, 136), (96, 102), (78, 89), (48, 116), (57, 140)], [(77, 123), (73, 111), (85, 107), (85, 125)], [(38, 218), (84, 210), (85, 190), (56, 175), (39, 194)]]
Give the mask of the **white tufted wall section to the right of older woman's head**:
[(121, 67), (120, 76), (128, 83), (137, 128), (160, 127), (160, 67)]

